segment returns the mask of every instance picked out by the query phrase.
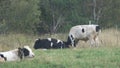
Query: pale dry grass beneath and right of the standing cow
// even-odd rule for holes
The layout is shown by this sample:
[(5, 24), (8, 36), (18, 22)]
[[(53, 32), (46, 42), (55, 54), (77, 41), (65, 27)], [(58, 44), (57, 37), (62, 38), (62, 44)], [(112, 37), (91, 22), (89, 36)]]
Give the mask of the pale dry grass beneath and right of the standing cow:
[[(120, 31), (116, 29), (102, 30), (99, 35), (100, 47), (115, 47), (120, 45)], [(90, 47), (90, 42), (79, 41), (78, 48)]]

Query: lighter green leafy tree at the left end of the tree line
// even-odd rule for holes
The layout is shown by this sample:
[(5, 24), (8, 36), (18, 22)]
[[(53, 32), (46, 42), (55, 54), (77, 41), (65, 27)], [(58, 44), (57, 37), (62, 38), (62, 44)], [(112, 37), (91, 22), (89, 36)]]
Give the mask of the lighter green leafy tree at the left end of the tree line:
[(1, 21), (9, 31), (31, 33), (39, 22), (39, 0), (4, 0), (1, 2)]

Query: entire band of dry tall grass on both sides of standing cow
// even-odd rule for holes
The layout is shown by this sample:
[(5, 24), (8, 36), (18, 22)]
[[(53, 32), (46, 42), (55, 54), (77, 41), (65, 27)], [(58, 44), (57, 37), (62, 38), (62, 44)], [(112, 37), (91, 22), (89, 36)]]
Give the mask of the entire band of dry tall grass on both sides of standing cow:
[[(56, 38), (67, 41), (68, 33), (62, 34), (44, 34), (44, 35), (25, 35), (25, 34), (9, 34), (0, 35), (0, 51), (18, 48), (24, 45), (29, 45), (31, 48), (37, 38)], [(99, 35), (101, 41), (100, 47), (115, 47), (120, 45), (120, 31), (115, 29), (106, 29)], [(88, 48), (90, 42), (79, 41), (77, 48)]]

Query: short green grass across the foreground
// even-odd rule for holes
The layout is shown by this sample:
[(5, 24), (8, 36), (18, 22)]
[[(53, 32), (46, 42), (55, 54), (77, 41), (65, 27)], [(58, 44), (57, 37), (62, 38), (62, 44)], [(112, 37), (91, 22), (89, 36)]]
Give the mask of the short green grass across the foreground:
[(34, 50), (35, 57), (0, 63), (1, 68), (119, 68), (120, 48)]

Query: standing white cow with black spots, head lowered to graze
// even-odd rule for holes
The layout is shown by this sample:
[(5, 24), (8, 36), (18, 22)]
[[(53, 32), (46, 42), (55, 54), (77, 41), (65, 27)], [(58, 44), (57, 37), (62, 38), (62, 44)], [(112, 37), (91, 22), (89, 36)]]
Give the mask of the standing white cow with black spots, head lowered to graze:
[(77, 25), (70, 29), (67, 42), (71, 43), (73, 47), (79, 40), (87, 42), (90, 41), (91, 45), (98, 45), (98, 35), (101, 31), (99, 25)]

